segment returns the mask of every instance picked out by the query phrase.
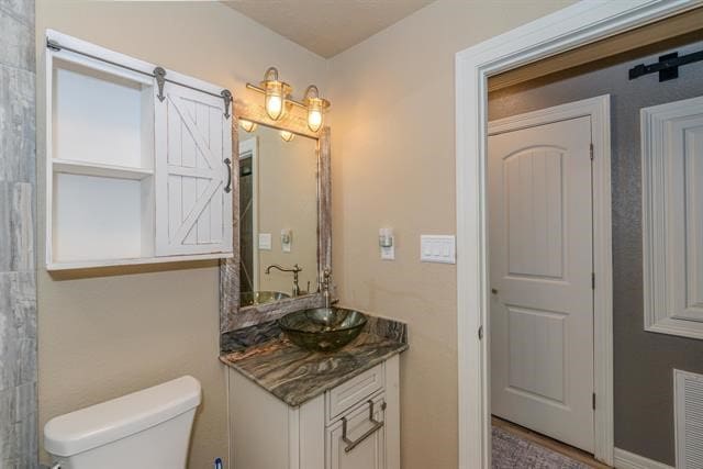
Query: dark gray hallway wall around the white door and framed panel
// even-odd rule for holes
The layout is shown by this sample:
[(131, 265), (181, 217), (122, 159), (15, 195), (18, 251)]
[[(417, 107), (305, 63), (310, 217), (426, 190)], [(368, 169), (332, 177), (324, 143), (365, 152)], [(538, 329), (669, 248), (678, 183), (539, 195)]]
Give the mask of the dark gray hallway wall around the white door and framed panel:
[[(703, 42), (671, 51), (701, 48)], [(673, 466), (672, 369), (703, 373), (703, 340), (644, 331), (639, 109), (703, 94), (703, 63), (681, 68), (673, 81), (660, 83), (657, 75), (628, 80), (632, 66), (660, 55), (647, 54), (498, 91), (490, 97), (489, 115), (500, 119), (611, 94), (615, 446)]]

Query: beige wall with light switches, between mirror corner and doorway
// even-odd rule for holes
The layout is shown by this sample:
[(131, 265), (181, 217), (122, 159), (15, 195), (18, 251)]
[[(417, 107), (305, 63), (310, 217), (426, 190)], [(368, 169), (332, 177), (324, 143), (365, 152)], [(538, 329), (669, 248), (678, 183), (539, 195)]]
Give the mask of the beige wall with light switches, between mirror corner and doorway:
[(438, 0), (330, 60), (335, 279), (344, 304), (410, 325), (403, 469), (457, 467), (456, 269), (419, 261), (421, 234), (455, 233), (455, 53), (567, 3)]

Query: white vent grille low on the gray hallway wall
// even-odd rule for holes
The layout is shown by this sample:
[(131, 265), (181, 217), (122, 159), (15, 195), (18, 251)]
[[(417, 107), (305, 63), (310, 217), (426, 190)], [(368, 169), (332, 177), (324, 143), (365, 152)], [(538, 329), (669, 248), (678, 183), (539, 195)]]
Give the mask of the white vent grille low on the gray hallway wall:
[(673, 370), (677, 468), (703, 469), (703, 375)]

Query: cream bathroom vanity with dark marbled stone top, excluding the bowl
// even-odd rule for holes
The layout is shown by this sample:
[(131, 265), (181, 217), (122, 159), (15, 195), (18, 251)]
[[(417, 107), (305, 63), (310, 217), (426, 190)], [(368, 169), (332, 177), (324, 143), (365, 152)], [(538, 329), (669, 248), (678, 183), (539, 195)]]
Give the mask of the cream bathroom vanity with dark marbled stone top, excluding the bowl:
[(223, 335), (232, 468), (399, 469), (402, 323), (369, 316), (333, 353), (269, 322)]

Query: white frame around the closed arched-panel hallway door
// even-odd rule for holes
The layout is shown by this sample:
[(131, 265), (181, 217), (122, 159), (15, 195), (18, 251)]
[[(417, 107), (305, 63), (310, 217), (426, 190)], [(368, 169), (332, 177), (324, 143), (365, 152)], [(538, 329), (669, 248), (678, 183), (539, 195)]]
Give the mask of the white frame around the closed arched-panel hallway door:
[[(488, 135), (518, 131), (578, 118), (591, 118), (592, 210), (593, 210), (593, 442), (596, 459), (607, 461), (613, 455), (613, 249), (611, 221), (611, 97), (603, 94), (537, 111), (499, 119), (488, 123)], [(488, 186), (487, 186), (488, 189)], [(489, 206), (487, 204), (487, 216)], [(486, 241), (487, 249), (489, 238)], [(490, 253), (487, 253), (487, 257)], [(490, 259), (487, 258), (487, 266)], [(488, 270), (488, 268), (487, 268)], [(487, 272), (487, 279), (490, 279)], [(489, 306), (490, 313), (490, 306)], [(486, 322), (488, 350), (491, 349), (490, 314)], [(487, 369), (490, 398), (491, 361)], [(490, 404), (490, 399), (489, 399)], [(489, 406), (489, 413), (491, 409)]]

